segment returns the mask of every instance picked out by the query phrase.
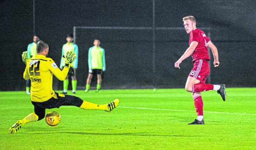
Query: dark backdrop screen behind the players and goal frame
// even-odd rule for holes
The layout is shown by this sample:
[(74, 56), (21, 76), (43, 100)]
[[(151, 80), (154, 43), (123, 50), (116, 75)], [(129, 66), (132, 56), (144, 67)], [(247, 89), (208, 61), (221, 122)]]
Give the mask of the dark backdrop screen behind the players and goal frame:
[[(152, 0), (35, 0), (35, 32), (49, 44), (48, 57), (59, 66), (66, 34), (73, 26), (152, 27)], [(220, 66), (211, 65), (208, 83), (227, 87), (256, 86), (256, 3), (254, 0), (156, 0), (155, 26), (181, 27), (193, 15), (218, 48)], [(21, 54), (33, 42), (33, 0), (0, 2), (0, 90), (25, 90)], [(153, 72), (152, 30), (77, 29), (78, 90), (85, 89), (88, 49), (100, 38), (106, 72), (102, 89), (184, 88), (192, 58), (174, 67), (189, 46), (185, 30), (156, 30)], [(211, 58), (213, 58), (211, 54)], [(210, 62), (213, 63), (213, 60)], [(71, 90), (71, 83), (69, 84)], [(92, 89), (96, 86), (94, 80)], [(63, 82), (53, 78), (54, 90)]]

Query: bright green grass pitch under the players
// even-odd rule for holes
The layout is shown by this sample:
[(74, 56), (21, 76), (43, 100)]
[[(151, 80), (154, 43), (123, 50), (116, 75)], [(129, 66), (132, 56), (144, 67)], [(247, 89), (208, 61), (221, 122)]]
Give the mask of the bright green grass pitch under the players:
[(43, 119), (16, 134), (8, 129), (33, 112), (30, 96), (0, 92), (0, 149), (255, 149), (256, 88), (226, 91), (226, 102), (216, 91), (202, 92), (206, 125), (187, 125), (197, 114), (184, 89), (77, 91), (76, 96), (97, 104), (119, 98), (119, 107), (111, 113), (75, 106), (47, 109), (62, 115), (59, 125), (50, 127)]

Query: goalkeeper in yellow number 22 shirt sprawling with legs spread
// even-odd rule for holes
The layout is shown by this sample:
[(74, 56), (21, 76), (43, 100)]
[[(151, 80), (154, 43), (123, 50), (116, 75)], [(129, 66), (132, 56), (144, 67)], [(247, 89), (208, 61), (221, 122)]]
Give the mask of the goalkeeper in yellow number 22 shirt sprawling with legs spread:
[(10, 129), (9, 133), (16, 133), (28, 122), (39, 121), (45, 117), (45, 109), (59, 108), (60, 106), (77, 106), (83, 109), (100, 109), (107, 112), (112, 111), (119, 104), (119, 99), (115, 99), (109, 104), (93, 104), (83, 101), (81, 98), (59, 94), (52, 90), (52, 75), (59, 80), (64, 80), (69, 72), (69, 67), (76, 59), (74, 52), (67, 52), (64, 68), (61, 71), (51, 58), (46, 58), (48, 45), (39, 41), (36, 47), (37, 55), (33, 59), (28, 59), (27, 53), (22, 54), (26, 69), (23, 74), (24, 79), (31, 79), (31, 102), (34, 105), (34, 113), (30, 113), (23, 120), (18, 120)]

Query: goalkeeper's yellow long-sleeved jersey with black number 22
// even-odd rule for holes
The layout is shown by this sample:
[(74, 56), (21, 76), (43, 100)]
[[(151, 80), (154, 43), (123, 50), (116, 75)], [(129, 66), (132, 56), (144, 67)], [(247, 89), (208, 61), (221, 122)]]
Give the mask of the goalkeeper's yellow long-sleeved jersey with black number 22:
[(45, 102), (52, 98), (52, 74), (59, 80), (64, 80), (69, 72), (65, 66), (61, 71), (51, 58), (44, 55), (35, 55), (28, 60), (23, 78), (31, 80), (31, 101)]

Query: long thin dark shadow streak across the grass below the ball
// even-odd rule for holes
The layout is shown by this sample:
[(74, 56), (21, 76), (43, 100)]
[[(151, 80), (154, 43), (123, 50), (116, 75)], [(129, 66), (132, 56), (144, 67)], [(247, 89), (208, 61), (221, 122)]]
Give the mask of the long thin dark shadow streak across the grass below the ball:
[(154, 132), (137, 132), (137, 133), (118, 133), (118, 134), (111, 134), (111, 133), (87, 133), (87, 132), (51, 132), (51, 133), (30, 133), (30, 134), (53, 134), (53, 133), (60, 133), (60, 134), (82, 134), (82, 135), (124, 135), (124, 136), (176, 136), (176, 137), (193, 137), (193, 136), (183, 136), (183, 135), (157, 135)]

